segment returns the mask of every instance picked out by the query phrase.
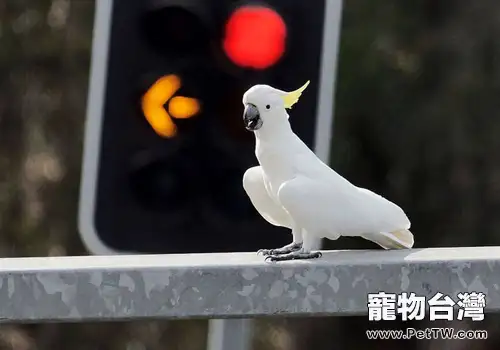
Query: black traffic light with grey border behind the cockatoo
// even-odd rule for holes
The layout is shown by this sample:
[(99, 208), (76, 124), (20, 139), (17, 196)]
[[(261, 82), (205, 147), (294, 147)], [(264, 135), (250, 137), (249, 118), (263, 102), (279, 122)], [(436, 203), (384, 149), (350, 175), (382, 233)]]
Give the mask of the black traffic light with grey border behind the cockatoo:
[(241, 99), (255, 84), (294, 90), (310, 80), (291, 124), (311, 148), (328, 148), (333, 93), (320, 84), (335, 78), (329, 1), (96, 2), (79, 214), (92, 252), (289, 241), (243, 190), (257, 161)]

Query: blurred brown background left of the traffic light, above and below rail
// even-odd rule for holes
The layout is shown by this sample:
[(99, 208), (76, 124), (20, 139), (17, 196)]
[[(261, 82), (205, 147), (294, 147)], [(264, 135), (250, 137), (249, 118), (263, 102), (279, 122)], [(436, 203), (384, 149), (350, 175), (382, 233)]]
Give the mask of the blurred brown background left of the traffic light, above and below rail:
[[(0, 2), (0, 255), (86, 254), (76, 213), (94, 2)], [(206, 322), (0, 328), (0, 349), (204, 349)]]

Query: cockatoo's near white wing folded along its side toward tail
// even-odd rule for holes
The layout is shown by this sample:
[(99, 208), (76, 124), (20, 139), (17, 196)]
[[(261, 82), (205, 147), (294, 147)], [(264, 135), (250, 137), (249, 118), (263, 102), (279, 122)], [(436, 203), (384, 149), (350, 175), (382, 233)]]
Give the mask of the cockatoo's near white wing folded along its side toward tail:
[(303, 176), (281, 185), (278, 200), (307, 232), (332, 239), (392, 232), (406, 228), (408, 220), (404, 213), (403, 217), (395, 215), (395, 205), (380, 196), (367, 195), (352, 185), (339, 188)]

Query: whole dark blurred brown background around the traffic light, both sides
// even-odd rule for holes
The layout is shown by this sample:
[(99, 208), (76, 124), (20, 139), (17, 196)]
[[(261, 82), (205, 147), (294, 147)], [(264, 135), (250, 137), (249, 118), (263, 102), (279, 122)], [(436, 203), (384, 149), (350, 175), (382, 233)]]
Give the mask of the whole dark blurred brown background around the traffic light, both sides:
[[(2, 257), (87, 254), (76, 218), (94, 5), (0, 1)], [(405, 208), (417, 248), (500, 244), (499, 19), (495, 0), (344, 3), (330, 163)], [(487, 341), (368, 341), (364, 333), (403, 326), (437, 323), (262, 319), (253, 343), (481, 350), (500, 342), (496, 315), (452, 325), (488, 329)], [(206, 332), (206, 321), (3, 325), (0, 349), (202, 350)]]

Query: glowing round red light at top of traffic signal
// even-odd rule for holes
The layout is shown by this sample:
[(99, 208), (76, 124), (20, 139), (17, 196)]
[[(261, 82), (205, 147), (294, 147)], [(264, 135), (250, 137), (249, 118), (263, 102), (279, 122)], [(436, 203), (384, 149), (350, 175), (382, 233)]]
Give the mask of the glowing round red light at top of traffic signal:
[(226, 23), (223, 48), (235, 64), (265, 69), (283, 56), (287, 28), (283, 18), (265, 6), (242, 6)]

